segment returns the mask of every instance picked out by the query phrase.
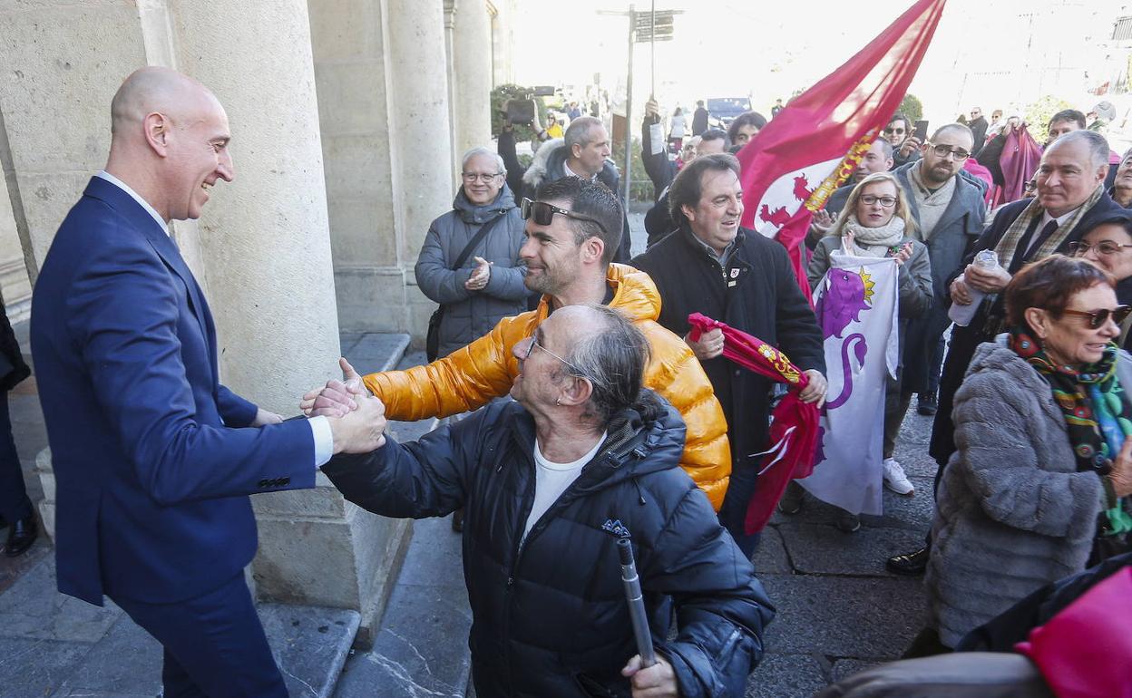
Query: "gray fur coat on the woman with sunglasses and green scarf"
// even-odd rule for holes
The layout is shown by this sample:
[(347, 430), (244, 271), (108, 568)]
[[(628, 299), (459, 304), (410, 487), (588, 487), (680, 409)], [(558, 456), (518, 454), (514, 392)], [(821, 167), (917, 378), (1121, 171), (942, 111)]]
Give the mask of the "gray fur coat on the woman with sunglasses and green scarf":
[[(1049, 384), (1005, 337), (979, 345), (955, 393), (958, 450), (936, 494), (925, 584), (928, 624), (949, 647), (1083, 570), (1104, 502), (1100, 479), (1077, 471)], [(1117, 376), (1132, 386), (1123, 352)]]

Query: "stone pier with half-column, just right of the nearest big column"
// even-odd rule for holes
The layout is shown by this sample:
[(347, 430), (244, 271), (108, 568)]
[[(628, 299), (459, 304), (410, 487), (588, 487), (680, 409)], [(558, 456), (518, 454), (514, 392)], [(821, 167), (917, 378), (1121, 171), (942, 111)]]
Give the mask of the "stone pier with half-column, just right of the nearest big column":
[(338, 324), (420, 345), (436, 305), (413, 266), (455, 192), (444, 9), (348, 5), (309, 0)]

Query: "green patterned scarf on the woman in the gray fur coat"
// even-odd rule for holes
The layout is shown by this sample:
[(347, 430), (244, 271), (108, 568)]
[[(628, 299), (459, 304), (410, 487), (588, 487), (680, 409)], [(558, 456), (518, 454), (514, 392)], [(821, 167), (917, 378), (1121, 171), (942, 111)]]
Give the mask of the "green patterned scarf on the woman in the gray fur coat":
[(1074, 369), (1056, 365), (1026, 330), (1010, 331), (1010, 348), (1046, 379), (1062, 411), (1079, 472), (1091, 471), (1105, 485), (1106, 509), (1100, 535), (1132, 532), (1130, 499), (1118, 500), (1109, 482), (1112, 459), (1132, 436), (1132, 403), (1116, 378), (1116, 344), (1097, 363)]

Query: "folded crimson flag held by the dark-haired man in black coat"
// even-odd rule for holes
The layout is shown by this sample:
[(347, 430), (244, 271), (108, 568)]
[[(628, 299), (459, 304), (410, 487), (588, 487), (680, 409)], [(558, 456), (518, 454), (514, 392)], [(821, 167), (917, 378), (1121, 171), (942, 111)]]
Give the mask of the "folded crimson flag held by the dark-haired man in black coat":
[[(689, 314), (688, 322), (692, 325), (689, 338), (693, 342), (698, 341), (702, 333), (718, 328), (723, 333), (723, 357), (760, 376), (790, 386), (789, 393), (771, 413), (767, 443), (773, 446), (763, 451), (758, 486), (747, 505), (744, 531), (748, 535), (757, 533), (774, 514), (774, 507), (782, 498), (786, 485), (794, 479), (807, 477), (814, 471), (817, 406), (798, 398), (798, 394), (809, 385), (809, 379), (786, 354), (757, 337), (698, 312)], [(745, 425), (728, 424), (728, 428), (743, 429)]]

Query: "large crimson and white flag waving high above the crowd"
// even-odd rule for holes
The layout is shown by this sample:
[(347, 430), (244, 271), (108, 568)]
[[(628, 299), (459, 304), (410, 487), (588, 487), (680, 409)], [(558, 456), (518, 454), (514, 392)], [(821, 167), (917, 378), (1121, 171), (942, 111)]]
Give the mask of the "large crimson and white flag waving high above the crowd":
[(813, 212), (857, 169), (908, 92), (945, 0), (919, 0), (867, 46), (790, 100), (741, 150), (741, 223), (781, 242), (807, 299), (801, 242)]

